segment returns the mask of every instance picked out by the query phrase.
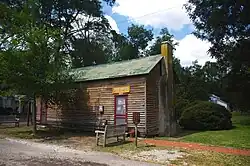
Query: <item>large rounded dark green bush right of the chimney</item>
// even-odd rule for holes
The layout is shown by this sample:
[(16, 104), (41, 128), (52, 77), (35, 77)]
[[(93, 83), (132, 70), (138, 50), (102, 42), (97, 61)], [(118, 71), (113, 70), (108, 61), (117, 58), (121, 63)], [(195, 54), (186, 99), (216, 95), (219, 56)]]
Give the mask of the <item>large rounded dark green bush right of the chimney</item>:
[(223, 106), (196, 101), (187, 107), (180, 118), (180, 125), (189, 130), (223, 130), (232, 128), (232, 114)]

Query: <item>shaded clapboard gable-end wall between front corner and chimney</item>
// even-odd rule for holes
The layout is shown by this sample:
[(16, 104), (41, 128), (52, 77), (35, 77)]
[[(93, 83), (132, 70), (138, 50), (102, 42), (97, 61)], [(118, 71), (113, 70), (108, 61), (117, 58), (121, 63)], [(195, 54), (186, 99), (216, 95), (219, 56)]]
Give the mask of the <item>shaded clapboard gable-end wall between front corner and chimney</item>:
[(159, 131), (159, 80), (161, 63), (149, 73), (146, 80), (147, 136), (157, 135)]

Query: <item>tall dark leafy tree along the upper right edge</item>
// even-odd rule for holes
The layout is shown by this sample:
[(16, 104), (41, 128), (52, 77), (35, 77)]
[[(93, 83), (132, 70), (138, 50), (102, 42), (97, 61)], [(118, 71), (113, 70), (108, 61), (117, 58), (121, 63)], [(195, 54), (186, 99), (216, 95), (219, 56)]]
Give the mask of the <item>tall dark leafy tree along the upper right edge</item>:
[[(196, 28), (195, 35), (208, 40), (210, 53), (227, 73), (231, 102), (250, 109), (250, 3), (228, 0), (189, 0), (185, 5)], [(237, 96), (237, 98), (235, 98)]]

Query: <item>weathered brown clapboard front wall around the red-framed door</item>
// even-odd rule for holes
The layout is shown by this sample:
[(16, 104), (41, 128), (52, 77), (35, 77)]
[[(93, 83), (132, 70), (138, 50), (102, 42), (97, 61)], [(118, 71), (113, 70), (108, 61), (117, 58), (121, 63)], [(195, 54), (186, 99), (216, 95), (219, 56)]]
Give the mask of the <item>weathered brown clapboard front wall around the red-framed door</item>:
[[(109, 123), (114, 123), (114, 103), (115, 96), (112, 94), (113, 87), (130, 85), (128, 94), (128, 127), (133, 127), (132, 112), (137, 111), (141, 114), (139, 131), (145, 134), (146, 106), (145, 106), (145, 76), (125, 77), (120, 79), (107, 79), (102, 81), (91, 81), (79, 83), (79, 90), (76, 93), (75, 104), (67, 108), (56, 109), (56, 106), (48, 107), (47, 122), (50, 124), (81, 127), (86, 131), (93, 131), (98, 118), (96, 106), (104, 106), (104, 119)], [(39, 117), (38, 112), (38, 118)]]

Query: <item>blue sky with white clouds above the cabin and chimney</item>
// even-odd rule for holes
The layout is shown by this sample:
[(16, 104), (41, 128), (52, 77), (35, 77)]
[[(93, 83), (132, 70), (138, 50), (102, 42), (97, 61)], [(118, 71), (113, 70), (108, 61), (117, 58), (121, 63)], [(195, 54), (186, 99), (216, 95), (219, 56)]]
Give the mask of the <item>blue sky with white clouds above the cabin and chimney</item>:
[(167, 27), (179, 45), (174, 56), (180, 59), (183, 66), (189, 66), (198, 60), (204, 65), (211, 59), (207, 51), (210, 43), (196, 38), (192, 32), (194, 26), (183, 5), (188, 0), (116, 0), (113, 7), (104, 4), (103, 12), (112, 29), (118, 33), (127, 33), (132, 24), (153, 28), (157, 36), (161, 28)]

